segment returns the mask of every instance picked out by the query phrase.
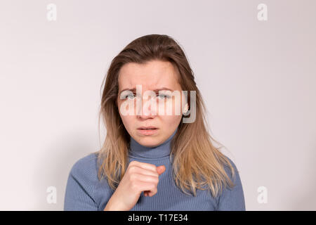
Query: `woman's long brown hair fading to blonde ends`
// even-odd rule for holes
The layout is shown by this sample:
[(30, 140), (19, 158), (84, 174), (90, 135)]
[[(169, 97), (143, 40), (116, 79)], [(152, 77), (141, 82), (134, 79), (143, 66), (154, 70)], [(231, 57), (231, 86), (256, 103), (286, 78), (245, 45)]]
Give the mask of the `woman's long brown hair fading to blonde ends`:
[[(123, 178), (129, 162), (129, 143), (131, 137), (126, 131), (117, 106), (119, 90), (119, 70), (126, 63), (144, 64), (150, 60), (162, 60), (172, 63), (178, 75), (178, 82), (183, 90), (187, 90), (190, 103), (190, 91), (196, 91), (195, 122), (183, 123), (171, 141), (173, 154), (173, 179), (176, 185), (186, 194), (187, 191), (196, 195), (196, 188), (210, 190), (213, 197), (223, 191), (227, 185), (234, 186), (225, 166), (235, 176), (235, 169), (228, 158), (216, 148), (214, 140), (207, 129), (205, 105), (202, 94), (197, 89), (194, 74), (180, 45), (164, 34), (150, 34), (131, 41), (117, 56), (115, 56), (103, 80), (104, 89), (99, 112), (103, 118), (107, 134), (105, 141), (98, 150), (98, 179), (103, 176), (114, 190)], [(102, 85), (103, 86), (103, 85)], [(102, 88), (102, 87), (101, 87)], [(189, 110), (191, 105), (189, 104)], [(188, 115), (186, 115), (188, 116)], [(183, 115), (183, 117), (186, 117)], [(203, 188), (203, 186), (206, 186)]]

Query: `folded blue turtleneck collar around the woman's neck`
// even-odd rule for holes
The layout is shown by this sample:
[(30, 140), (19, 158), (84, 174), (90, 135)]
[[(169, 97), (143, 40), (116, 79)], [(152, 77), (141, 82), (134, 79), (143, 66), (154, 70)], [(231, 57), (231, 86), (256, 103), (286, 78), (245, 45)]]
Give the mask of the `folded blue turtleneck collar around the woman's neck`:
[(138, 158), (164, 158), (171, 153), (171, 141), (178, 131), (178, 127), (164, 143), (154, 147), (143, 146), (131, 136), (130, 155)]

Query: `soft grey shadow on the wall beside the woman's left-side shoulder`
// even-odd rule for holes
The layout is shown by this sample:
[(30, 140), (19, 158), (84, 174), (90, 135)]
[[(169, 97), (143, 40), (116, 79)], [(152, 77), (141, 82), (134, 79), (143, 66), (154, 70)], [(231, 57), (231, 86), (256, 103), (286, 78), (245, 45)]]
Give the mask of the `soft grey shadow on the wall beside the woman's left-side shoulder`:
[[(65, 190), (70, 169), (77, 160), (98, 150), (98, 135), (93, 131), (81, 129), (70, 134), (62, 134), (43, 149), (39, 163), (34, 165), (34, 181), (37, 198), (29, 210), (63, 210)], [(98, 146), (97, 146), (98, 145)], [(49, 186), (56, 188), (56, 203), (48, 203), (46, 192)]]

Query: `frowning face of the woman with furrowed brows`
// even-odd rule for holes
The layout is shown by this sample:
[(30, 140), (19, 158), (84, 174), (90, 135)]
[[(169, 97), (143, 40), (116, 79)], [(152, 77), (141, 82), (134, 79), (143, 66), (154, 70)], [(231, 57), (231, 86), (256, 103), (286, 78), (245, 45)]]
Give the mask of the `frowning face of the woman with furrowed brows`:
[[(141, 86), (138, 93), (136, 85)], [(148, 91), (154, 92), (148, 96), (144, 94), (145, 91), (147, 94), (150, 93)], [(179, 98), (173, 93), (180, 94)], [(170, 62), (152, 60), (143, 65), (127, 63), (119, 71), (119, 114), (126, 130), (143, 146), (158, 146), (173, 134), (182, 118), (182, 99), (182, 89)], [(139, 129), (150, 126), (157, 129)]]

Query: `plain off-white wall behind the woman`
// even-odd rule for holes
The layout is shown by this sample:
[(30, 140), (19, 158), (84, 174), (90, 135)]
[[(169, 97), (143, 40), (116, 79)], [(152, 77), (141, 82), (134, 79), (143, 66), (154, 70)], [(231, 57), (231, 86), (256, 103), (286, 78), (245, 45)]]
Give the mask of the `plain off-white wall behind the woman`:
[[(48, 4), (57, 20), (46, 18)], [(257, 18), (258, 4), (268, 20)], [(99, 150), (101, 82), (146, 34), (180, 42), (246, 210), (316, 210), (315, 1), (1, 1), (0, 210), (63, 210), (74, 162)], [(102, 124), (101, 124), (102, 125)], [(57, 203), (46, 189), (55, 186)], [(268, 203), (258, 203), (258, 187)]]

